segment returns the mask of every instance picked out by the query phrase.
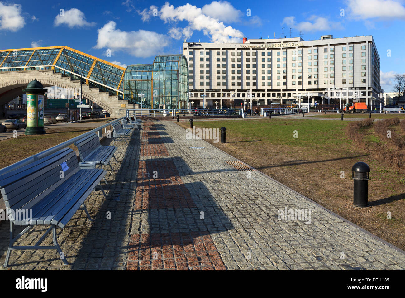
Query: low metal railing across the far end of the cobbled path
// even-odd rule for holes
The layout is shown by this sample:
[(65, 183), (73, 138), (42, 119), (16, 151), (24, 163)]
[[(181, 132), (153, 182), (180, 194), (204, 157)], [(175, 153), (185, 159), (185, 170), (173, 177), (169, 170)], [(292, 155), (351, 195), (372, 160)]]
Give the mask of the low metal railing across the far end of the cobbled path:
[(242, 116), (242, 109), (127, 109), (126, 116)]

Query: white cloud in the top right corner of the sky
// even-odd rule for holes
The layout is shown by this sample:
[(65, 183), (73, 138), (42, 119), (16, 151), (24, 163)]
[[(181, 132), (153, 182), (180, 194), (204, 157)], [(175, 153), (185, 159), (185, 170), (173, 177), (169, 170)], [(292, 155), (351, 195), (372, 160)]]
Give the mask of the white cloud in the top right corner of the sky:
[(350, 16), (358, 19), (405, 19), (405, 7), (394, 0), (348, 0)]

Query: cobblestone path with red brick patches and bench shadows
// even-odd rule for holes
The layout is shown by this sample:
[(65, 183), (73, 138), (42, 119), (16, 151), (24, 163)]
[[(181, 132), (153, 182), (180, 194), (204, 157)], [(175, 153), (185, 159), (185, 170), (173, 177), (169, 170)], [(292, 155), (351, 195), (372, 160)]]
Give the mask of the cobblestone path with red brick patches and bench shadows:
[[(174, 122), (144, 124), (128, 146), (115, 143), (107, 197), (94, 191), (86, 201), (95, 221), (79, 211), (59, 230), (72, 265), (55, 251), (13, 251), (9, 268), (405, 269), (403, 251), (207, 142), (186, 139)], [(7, 230), (0, 226), (0, 262)], [(41, 231), (21, 244), (34, 244)]]

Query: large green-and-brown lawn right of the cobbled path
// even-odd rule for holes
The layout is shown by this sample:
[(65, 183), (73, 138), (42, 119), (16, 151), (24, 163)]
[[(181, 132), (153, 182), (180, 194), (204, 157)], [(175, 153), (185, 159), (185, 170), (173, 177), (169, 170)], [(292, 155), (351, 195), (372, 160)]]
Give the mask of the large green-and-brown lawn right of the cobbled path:
[[(348, 123), (308, 119), (194, 121), (198, 128), (225, 126), (226, 144), (207, 141), (405, 249), (404, 169), (387, 165), (350, 140), (346, 135)], [(189, 127), (185, 122), (177, 124)], [(364, 139), (376, 138), (370, 129), (365, 128)], [(294, 131), (298, 138), (293, 137)], [(351, 169), (358, 161), (371, 168), (368, 208), (353, 206)], [(391, 219), (387, 219), (387, 212), (391, 212)]]

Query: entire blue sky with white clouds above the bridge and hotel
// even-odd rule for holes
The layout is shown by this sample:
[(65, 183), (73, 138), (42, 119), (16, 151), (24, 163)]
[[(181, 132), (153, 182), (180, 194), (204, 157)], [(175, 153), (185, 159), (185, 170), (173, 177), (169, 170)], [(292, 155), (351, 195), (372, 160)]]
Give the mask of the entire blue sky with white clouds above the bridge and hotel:
[(284, 36), (292, 28), (305, 40), (373, 35), (386, 92), (393, 75), (405, 72), (402, 0), (0, 1), (2, 49), (66, 45), (124, 66), (177, 54), (185, 38), (241, 42), (280, 37), (282, 27)]

